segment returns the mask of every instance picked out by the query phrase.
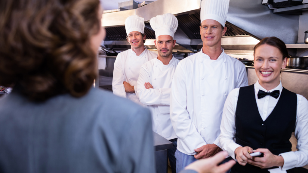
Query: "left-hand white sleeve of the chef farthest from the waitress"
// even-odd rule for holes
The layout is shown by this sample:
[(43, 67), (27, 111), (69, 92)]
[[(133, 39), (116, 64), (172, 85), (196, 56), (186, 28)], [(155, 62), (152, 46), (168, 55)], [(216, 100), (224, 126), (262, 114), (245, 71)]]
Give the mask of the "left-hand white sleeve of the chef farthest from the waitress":
[(114, 95), (126, 98), (126, 92), (124, 88), (124, 69), (122, 66), (122, 57), (121, 54), (115, 59), (113, 77), (112, 77), (112, 91)]

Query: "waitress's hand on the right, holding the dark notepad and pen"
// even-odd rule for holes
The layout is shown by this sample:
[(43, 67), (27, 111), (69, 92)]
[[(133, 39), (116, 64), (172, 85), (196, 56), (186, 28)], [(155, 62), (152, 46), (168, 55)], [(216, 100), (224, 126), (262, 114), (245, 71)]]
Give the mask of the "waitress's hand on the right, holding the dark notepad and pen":
[(282, 156), (274, 155), (267, 148), (258, 148), (253, 152), (263, 153), (263, 157), (253, 157), (253, 159), (248, 160), (247, 162), (253, 166), (260, 167), (261, 169), (269, 167), (282, 167), (284, 164), (284, 159)]

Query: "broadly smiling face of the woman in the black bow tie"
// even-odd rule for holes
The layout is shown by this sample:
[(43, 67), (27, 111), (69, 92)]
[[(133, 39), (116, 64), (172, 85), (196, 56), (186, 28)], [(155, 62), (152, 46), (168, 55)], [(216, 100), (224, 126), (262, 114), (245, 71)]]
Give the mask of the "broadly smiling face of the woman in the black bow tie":
[(254, 52), (254, 68), (259, 78), (259, 83), (279, 84), (280, 71), (286, 68), (287, 58), (277, 47), (263, 44)]

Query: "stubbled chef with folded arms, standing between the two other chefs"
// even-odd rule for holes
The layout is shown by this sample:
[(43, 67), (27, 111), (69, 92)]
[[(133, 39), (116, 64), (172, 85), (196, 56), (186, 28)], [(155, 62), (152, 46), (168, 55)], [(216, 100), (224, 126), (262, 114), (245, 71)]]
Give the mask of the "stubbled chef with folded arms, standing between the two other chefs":
[(173, 39), (178, 26), (177, 18), (170, 13), (158, 15), (150, 20), (155, 30), (158, 56), (141, 66), (138, 78), (139, 99), (152, 113), (152, 129), (173, 143), (168, 149), (172, 173), (176, 173), (177, 137), (170, 121), (170, 92), (172, 77), (180, 60), (172, 56), (176, 40)]

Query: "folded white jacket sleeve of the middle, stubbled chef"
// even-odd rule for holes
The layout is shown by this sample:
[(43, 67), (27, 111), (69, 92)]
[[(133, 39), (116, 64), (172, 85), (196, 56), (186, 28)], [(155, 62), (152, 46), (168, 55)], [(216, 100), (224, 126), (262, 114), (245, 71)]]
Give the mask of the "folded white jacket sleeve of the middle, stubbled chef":
[[(145, 65), (140, 68), (140, 74), (137, 81), (139, 100), (142, 104), (153, 105), (170, 105), (170, 88), (150, 88), (146, 89), (145, 82), (151, 83), (150, 70)], [(152, 83), (151, 83), (152, 85)]]

